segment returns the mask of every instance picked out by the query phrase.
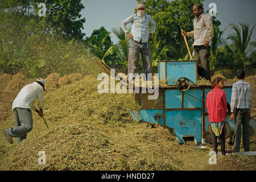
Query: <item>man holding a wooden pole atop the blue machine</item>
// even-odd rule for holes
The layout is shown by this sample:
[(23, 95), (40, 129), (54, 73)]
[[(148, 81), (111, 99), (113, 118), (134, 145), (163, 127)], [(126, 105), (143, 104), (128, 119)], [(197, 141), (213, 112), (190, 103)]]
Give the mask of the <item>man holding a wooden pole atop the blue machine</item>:
[(210, 65), (208, 59), (213, 36), (212, 18), (203, 13), (203, 6), (199, 3), (193, 6), (193, 14), (195, 15), (195, 19), (193, 20), (194, 30), (191, 32), (181, 32), (181, 35), (194, 37), (194, 56), (195, 60), (199, 60), (198, 73), (200, 76), (210, 80)]

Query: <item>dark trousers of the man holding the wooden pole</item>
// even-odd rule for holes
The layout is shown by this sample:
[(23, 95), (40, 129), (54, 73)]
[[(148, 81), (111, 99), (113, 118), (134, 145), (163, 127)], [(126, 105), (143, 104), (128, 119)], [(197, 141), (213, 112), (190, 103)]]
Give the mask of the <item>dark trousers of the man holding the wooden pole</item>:
[(195, 60), (198, 60), (197, 73), (205, 77), (207, 80), (210, 80), (210, 64), (209, 64), (209, 55), (210, 55), (210, 46), (204, 47), (202, 46), (194, 46), (194, 56)]

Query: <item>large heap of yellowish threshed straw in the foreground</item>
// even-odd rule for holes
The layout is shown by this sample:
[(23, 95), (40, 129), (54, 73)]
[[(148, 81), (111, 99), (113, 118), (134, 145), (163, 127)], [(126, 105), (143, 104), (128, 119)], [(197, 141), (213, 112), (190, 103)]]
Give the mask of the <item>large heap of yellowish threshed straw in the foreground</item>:
[[(96, 78), (63, 86), (45, 97), (44, 118), (19, 145), (0, 138), (1, 170), (196, 170), (208, 154), (181, 146), (167, 129), (135, 122), (134, 94), (100, 94)], [(14, 126), (7, 118), (0, 130)], [(46, 165), (38, 165), (45, 151)], [(201, 160), (195, 160), (200, 158)]]

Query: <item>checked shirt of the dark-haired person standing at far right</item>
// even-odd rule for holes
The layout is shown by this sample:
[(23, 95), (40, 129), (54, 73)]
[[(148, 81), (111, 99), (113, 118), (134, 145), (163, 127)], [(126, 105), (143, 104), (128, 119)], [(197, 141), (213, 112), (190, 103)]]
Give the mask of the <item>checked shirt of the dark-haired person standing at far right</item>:
[(251, 85), (244, 80), (238, 80), (232, 86), (231, 112), (234, 107), (238, 109), (251, 109)]

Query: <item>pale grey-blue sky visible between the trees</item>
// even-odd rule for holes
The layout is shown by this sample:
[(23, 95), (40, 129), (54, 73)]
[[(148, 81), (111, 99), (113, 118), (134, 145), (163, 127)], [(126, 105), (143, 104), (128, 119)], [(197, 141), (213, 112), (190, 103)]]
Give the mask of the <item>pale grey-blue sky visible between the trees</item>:
[[(134, 14), (137, 5), (136, 0), (82, 0), (81, 2), (85, 6), (80, 14), (82, 18), (86, 19), (84, 30), (82, 30), (86, 36), (90, 36), (93, 30), (101, 26), (110, 32), (112, 32), (112, 28), (121, 27), (122, 20)], [(205, 0), (203, 3), (205, 13), (211, 9), (210, 3), (216, 4), (217, 19), (221, 22), (220, 30), (228, 27), (224, 33), (224, 38), (234, 32), (229, 27), (230, 23), (249, 23), (250, 28), (256, 24), (256, 0)], [(110, 34), (110, 37), (114, 44), (118, 42), (113, 33)], [(256, 41), (256, 27), (251, 41)]]

